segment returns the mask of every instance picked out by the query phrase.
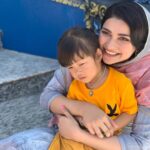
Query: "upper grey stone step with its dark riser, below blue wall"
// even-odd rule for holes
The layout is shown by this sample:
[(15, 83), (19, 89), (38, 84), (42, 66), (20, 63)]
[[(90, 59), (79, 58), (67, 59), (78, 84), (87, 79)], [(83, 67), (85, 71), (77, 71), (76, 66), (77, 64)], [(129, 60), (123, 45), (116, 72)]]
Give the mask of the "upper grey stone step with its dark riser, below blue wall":
[(41, 92), (58, 68), (54, 59), (0, 50), (0, 102)]

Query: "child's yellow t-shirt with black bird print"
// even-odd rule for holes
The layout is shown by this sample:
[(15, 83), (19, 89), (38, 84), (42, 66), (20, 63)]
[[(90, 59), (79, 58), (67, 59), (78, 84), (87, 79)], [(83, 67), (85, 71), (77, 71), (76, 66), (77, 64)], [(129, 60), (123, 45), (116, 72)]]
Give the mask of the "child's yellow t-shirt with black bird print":
[(112, 119), (121, 113), (135, 114), (137, 112), (137, 100), (130, 79), (111, 67), (103, 85), (93, 90), (93, 96), (89, 93), (90, 89), (84, 83), (73, 80), (67, 97), (70, 100), (95, 104)]

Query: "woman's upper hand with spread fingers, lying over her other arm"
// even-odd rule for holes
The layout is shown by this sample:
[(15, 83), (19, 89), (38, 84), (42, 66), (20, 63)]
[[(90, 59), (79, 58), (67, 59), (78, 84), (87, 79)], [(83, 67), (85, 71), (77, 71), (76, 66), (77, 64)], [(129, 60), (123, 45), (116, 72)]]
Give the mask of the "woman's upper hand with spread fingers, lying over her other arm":
[(100, 138), (103, 138), (104, 135), (110, 137), (114, 134), (117, 125), (101, 109), (95, 105), (84, 109), (82, 124), (91, 134), (96, 134)]

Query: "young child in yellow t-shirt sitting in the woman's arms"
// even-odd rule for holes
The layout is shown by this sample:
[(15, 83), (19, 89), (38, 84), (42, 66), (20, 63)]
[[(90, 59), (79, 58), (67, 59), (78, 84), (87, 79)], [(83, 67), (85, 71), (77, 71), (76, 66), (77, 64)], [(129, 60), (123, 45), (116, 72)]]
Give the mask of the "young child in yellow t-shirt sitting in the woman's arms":
[[(132, 83), (124, 74), (101, 62), (102, 52), (94, 32), (79, 27), (65, 32), (58, 43), (58, 60), (74, 79), (67, 95), (70, 100), (86, 101), (103, 109), (115, 121), (116, 131), (134, 119), (137, 100)], [(97, 135), (104, 137), (99, 131)], [(57, 133), (49, 147), (49, 150), (56, 149), (92, 148)]]

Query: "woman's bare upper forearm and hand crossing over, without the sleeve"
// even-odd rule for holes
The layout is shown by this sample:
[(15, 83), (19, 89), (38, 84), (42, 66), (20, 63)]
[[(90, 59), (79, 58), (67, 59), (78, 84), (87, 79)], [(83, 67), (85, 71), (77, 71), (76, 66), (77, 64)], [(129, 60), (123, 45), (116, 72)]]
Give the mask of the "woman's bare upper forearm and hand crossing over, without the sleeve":
[(110, 137), (116, 130), (116, 124), (109, 116), (93, 104), (67, 100), (65, 97), (59, 96), (51, 102), (50, 109), (55, 114), (64, 114), (64, 111), (61, 109), (62, 106), (69, 110), (73, 116), (80, 117), (83, 125), (91, 134), (103, 137), (102, 132), (104, 132), (107, 137)]

